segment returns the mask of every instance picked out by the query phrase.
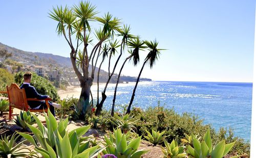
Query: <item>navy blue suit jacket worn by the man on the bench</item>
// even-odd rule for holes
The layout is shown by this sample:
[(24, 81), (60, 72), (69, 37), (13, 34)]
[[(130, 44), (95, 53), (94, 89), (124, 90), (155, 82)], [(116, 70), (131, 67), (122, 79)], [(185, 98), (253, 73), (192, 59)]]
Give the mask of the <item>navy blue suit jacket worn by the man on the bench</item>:
[[(40, 95), (36, 92), (35, 87), (29, 84), (23, 84), (20, 86), (20, 89), (24, 88), (26, 92), (27, 98), (37, 98), (37, 99), (46, 99), (48, 96), (47, 95)], [(28, 104), (31, 108), (38, 107), (44, 103), (44, 101), (28, 101)]]

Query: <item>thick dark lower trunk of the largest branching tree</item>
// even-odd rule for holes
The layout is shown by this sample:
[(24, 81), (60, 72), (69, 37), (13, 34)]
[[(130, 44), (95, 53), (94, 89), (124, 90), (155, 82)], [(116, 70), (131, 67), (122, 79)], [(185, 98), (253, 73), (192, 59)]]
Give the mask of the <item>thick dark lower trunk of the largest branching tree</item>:
[(82, 78), (80, 80), (81, 84), (81, 94), (78, 102), (78, 111), (79, 111), (79, 117), (84, 119), (84, 116), (87, 114), (87, 112), (90, 109), (90, 91), (91, 86), (93, 83), (93, 79), (91, 77), (89, 78)]

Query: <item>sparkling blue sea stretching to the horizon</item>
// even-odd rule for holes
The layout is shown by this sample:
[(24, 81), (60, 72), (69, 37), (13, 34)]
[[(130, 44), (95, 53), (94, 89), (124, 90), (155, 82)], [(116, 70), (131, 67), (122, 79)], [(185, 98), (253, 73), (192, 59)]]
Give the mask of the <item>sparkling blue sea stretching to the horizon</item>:
[[(117, 88), (116, 111), (129, 104), (135, 82), (121, 83)], [(100, 92), (104, 84), (100, 85)], [(109, 84), (104, 108), (110, 110), (115, 84)], [(96, 86), (92, 87), (94, 98)], [(101, 93), (100, 93), (101, 97)], [(150, 106), (174, 108), (178, 114), (191, 112), (211, 124), (217, 131), (231, 127), (234, 136), (250, 141), (252, 83), (233, 82), (139, 82), (133, 106), (147, 109)]]

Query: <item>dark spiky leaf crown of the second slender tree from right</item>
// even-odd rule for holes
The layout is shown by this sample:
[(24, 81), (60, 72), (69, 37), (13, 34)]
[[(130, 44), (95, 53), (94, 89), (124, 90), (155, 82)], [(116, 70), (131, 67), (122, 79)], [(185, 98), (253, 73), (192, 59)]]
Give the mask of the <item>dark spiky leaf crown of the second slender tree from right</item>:
[(132, 54), (128, 57), (130, 60), (133, 59), (133, 64), (136, 66), (138, 62), (140, 61), (140, 56), (139, 56), (139, 50), (143, 50), (146, 48), (144, 45), (144, 41), (140, 40), (139, 37), (136, 39), (130, 39), (127, 42), (127, 45), (133, 49)]

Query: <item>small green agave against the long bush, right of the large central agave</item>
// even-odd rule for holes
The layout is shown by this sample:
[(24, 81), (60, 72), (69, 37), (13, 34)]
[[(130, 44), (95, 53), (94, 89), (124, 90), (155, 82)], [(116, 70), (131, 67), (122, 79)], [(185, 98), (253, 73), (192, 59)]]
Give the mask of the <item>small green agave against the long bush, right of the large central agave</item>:
[(144, 136), (145, 139), (147, 139), (148, 141), (150, 141), (152, 144), (154, 145), (157, 145), (157, 144), (160, 144), (164, 141), (164, 139), (167, 137), (167, 136), (163, 136), (165, 130), (162, 131), (161, 133), (159, 131), (155, 131), (152, 129), (152, 134), (146, 130), (146, 133), (147, 133), (147, 136)]

